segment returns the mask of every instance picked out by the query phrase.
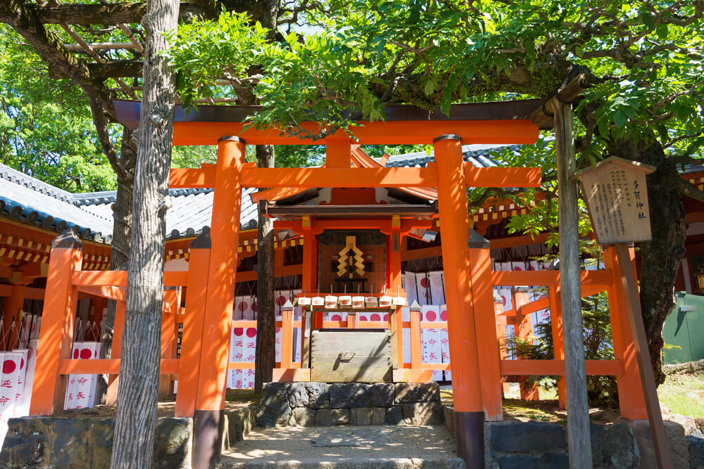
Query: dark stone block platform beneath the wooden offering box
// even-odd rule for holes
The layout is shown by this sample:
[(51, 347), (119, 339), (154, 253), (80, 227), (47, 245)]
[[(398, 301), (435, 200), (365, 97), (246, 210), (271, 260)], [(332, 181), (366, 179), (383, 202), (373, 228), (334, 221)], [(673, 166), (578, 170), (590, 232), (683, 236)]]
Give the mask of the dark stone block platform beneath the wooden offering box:
[(436, 383), (266, 383), (260, 427), (335, 425), (442, 425)]

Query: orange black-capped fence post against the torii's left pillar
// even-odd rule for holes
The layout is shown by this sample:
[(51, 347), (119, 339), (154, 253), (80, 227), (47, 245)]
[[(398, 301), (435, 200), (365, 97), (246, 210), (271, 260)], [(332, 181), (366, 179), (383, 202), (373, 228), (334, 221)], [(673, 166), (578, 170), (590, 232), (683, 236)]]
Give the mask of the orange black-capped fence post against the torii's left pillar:
[(186, 312), (181, 338), (181, 358), (178, 369), (176, 394), (177, 417), (192, 417), (196, 409), (196, 389), (201, 366), (201, 340), (203, 339), (203, 312), (206, 308), (208, 271), (210, 264), (210, 234), (201, 233), (191, 241), (188, 259), (188, 285)]

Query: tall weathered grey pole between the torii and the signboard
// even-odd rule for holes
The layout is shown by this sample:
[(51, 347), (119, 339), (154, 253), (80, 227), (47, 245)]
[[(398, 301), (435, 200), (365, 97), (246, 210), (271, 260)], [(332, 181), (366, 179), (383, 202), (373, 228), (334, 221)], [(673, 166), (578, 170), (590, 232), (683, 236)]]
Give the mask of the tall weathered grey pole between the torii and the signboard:
[(579, 284), (579, 226), (577, 181), (574, 179), (574, 131), (572, 103), (553, 98), (555, 150), (558, 163), (558, 214), (560, 219), (560, 302), (565, 341), (565, 388), (567, 390), (567, 446), (570, 468), (591, 468), (589, 402), (586, 398), (582, 295)]

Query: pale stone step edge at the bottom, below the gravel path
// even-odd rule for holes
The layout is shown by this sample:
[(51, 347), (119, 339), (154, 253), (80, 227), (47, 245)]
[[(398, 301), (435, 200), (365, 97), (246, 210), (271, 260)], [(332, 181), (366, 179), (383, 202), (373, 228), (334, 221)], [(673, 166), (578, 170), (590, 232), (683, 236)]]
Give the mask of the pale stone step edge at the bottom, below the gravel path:
[(247, 461), (222, 462), (219, 469), (463, 469), (465, 461), (460, 458), (310, 458), (291, 461)]

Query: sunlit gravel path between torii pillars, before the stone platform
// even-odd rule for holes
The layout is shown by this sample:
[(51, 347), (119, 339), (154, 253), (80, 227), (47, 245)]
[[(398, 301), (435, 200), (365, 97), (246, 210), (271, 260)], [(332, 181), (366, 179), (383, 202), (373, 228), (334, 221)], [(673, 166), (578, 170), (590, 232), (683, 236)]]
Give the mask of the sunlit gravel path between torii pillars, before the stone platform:
[(424, 457), (456, 457), (444, 426), (255, 428), (222, 454), (222, 463)]

